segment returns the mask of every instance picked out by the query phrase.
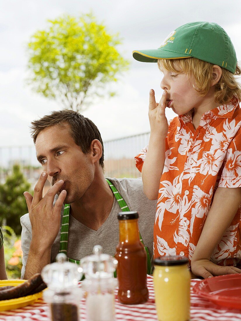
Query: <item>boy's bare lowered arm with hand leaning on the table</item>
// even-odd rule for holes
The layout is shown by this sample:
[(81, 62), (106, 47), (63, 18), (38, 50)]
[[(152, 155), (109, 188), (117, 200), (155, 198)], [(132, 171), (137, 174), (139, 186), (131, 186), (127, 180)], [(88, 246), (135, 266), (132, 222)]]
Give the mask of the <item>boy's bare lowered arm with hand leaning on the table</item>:
[(241, 202), (241, 187), (218, 187), (191, 261), (192, 273), (203, 278), (241, 273), (233, 266), (219, 266), (210, 257), (237, 213)]

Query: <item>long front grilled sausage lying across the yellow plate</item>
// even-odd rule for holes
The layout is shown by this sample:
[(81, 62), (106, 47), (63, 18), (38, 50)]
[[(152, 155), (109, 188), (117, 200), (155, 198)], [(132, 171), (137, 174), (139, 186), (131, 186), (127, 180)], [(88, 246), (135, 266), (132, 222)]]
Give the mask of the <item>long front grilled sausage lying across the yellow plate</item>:
[(42, 282), (43, 280), (41, 278), (41, 274), (34, 274), (26, 282), (14, 286), (11, 289), (0, 291), (0, 300), (9, 300), (24, 297), (28, 293), (36, 289)]

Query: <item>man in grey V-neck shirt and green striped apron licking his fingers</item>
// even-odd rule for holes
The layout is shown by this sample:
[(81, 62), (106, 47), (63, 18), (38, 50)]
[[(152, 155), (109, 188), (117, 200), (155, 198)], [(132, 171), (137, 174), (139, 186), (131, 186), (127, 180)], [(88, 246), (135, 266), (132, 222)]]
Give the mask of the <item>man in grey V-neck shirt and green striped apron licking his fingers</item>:
[[(113, 256), (119, 241), (117, 213), (128, 208), (139, 213), (139, 231), (152, 257), (156, 201), (143, 194), (141, 178), (104, 178), (103, 142), (94, 123), (63, 110), (31, 124), (43, 172), (33, 197), (24, 192), (29, 213), (21, 217), (22, 278), (41, 272), (59, 252), (79, 262), (99, 244)], [(42, 197), (47, 179), (52, 187)]]

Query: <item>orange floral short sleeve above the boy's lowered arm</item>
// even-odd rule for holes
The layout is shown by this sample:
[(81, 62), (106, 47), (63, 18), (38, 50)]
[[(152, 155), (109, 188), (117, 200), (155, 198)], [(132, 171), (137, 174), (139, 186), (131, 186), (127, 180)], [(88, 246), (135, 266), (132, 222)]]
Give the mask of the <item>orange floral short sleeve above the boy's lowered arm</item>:
[(219, 187), (241, 187), (241, 129), (228, 146)]

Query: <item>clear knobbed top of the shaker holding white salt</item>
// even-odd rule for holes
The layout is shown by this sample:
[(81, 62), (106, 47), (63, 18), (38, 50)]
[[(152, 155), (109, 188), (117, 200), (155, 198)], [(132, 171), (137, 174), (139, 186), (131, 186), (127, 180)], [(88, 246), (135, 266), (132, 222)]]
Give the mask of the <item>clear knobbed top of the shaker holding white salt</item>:
[(103, 253), (100, 245), (94, 246), (93, 255), (85, 256), (80, 261), (86, 279), (112, 278), (117, 263), (114, 257)]

